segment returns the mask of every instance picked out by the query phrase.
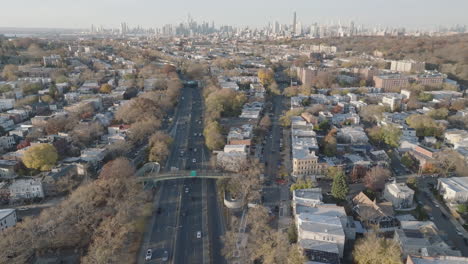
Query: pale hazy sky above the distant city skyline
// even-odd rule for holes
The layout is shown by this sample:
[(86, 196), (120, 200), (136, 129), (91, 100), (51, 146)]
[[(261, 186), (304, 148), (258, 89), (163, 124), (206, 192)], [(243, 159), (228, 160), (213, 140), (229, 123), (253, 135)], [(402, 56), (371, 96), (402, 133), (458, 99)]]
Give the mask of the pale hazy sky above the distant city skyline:
[(156, 27), (186, 21), (188, 13), (217, 26), (262, 26), (290, 24), (294, 11), (303, 24), (468, 24), (468, 0), (0, 0), (0, 27)]

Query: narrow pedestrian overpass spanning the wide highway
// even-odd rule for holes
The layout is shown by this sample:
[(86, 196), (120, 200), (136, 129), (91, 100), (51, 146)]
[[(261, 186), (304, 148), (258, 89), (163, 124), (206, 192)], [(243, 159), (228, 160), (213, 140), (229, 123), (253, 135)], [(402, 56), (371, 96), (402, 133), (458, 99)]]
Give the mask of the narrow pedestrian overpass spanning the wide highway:
[(217, 172), (217, 171), (172, 171), (163, 173), (148, 173), (144, 176), (137, 177), (139, 182), (145, 186), (154, 184), (159, 181), (175, 180), (175, 179), (190, 179), (190, 178), (205, 178), (205, 179), (227, 179), (236, 176), (234, 173)]

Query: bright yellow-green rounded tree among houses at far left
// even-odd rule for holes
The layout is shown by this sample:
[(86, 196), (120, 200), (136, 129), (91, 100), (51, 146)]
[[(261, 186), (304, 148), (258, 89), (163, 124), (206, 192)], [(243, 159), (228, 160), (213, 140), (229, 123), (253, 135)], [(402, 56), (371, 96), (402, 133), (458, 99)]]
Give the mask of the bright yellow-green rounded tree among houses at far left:
[(30, 169), (48, 171), (52, 169), (58, 159), (57, 150), (50, 144), (37, 144), (27, 149), (23, 156), (23, 163)]

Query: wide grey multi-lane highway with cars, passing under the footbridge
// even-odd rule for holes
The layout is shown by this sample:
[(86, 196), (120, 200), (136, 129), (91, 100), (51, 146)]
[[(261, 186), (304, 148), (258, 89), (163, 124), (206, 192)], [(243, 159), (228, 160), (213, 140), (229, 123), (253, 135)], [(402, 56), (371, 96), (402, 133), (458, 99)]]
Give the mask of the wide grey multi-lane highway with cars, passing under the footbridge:
[[(198, 88), (184, 87), (173, 118), (174, 139), (163, 170), (194, 170), (203, 173), (209, 160), (203, 138), (203, 102)], [(179, 179), (158, 183), (154, 215), (149, 223), (144, 251), (153, 250), (147, 263), (223, 263), (220, 237), (224, 222), (216, 195), (216, 183), (209, 179)], [(143, 263), (141, 255), (139, 263)]]

